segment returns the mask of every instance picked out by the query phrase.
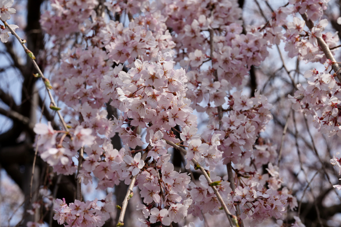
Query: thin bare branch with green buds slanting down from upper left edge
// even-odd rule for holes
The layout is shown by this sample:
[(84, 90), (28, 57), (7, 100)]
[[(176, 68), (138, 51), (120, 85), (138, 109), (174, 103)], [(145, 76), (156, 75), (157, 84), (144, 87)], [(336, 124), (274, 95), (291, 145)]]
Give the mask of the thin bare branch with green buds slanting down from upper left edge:
[(32, 53), (32, 51), (30, 51), (30, 50), (25, 46), (26, 40), (20, 38), (20, 37), (18, 36), (18, 34), (16, 34), (16, 33), (14, 32), (14, 30), (7, 24), (7, 22), (5, 22), (5, 21), (3, 21), (3, 20), (1, 20), (1, 21), (2, 21), (2, 23), (5, 25), (5, 27), (8, 28), (8, 30), (12, 33), (12, 35), (15, 36), (15, 38), (18, 39), (18, 41), (20, 42), (20, 44), (21, 44), (22, 47), (24, 48), (25, 52), (27, 53), (27, 55), (30, 57), (30, 59), (31, 59), (33, 65), (34, 65), (34, 67), (35, 67), (36, 70), (38, 71), (39, 76), (42, 77), (43, 82), (44, 82), (44, 84), (45, 84), (45, 87), (46, 87), (46, 90), (47, 90), (47, 94), (48, 94), (48, 96), (50, 97), (50, 100), (51, 100), (50, 108), (51, 108), (52, 110), (57, 111), (57, 114), (58, 114), (58, 116), (59, 116), (60, 121), (61, 121), (62, 124), (63, 124), (63, 127), (64, 127), (65, 131), (69, 132), (69, 129), (68, 129), (66, 123), (65, 123), (64, 117), (62, 116), (62, 114), (60, 114), (59, 108), (57, 107), (56, 103), (54, 102), (53, 96), (52, 96), (52, 94), (51, 94), (51, 92), (50, 92), (50, 89), (52, 89), (52, 86), (51, 86), (51, 84), (50, 84), (50, 81), (43, 75), (43, 72), (40, 70), (40, 68), (39, 68), (39, 66), (38, 66), (38, 64), (37, 64), (37, 62), (35, 61), (36, 57), (34, 56), (34, 54)]

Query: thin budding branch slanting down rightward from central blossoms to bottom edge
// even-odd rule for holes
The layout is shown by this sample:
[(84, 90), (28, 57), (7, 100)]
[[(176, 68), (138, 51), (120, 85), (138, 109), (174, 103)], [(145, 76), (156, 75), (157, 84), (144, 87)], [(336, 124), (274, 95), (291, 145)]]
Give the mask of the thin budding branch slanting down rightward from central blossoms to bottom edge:
[[(182, 152), (184, 155), (187, 154), (187, 151), (183, 148), (181, 148), (180, 146), (174, 144), (173, 142), (166, 140), (167, 144), (171, 145), (173, 148), (175, 148), (176, 150)], [(205, 176), (206, 180), (208, 181), (209, 185), (212, 183), (211, 178), (209, 177), (209, 175), (207, 174), (206, 170), (197, 162), (197, 160), (195, 160), (195, 158), (193, 158), (191, 160), (194, 163), (194, 166), (198, 167), (200, 169), (200, 171), (202, 172), (202, 174)], [(224, 200), (222, 199), (220, 193), (218, 192), (218, 190), (215, 188), (215, 186), (211, 186), (214, 194), (216, 195), (217, 199), (219, 200), (223, 210), (225, 211), (225, 214), (227, 216), (228, 221), (230, 222), (231, 227), (236, 227), (236, 225), (234, 224), (235, 222), (232, 221), (232, 219), (236, 220), (236, 217), (233, 217), (233, 215), (231, 214), (231, 212), (227, 209), (227, 206), (224, 202)]]

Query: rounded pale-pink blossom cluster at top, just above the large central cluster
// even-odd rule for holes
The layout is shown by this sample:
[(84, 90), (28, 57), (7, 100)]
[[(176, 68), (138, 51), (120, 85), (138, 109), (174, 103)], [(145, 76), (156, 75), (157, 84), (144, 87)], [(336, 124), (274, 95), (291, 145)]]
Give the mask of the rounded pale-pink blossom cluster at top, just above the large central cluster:
[[(141, 4), (132, 3), (136, 3), (134, 7)], [(141, 9), (144, 15), (134, 18), (127, 28), (118, 21), (110, 21), (99, 32), (99, 41), (116, 63), (127, 60), (132, 63), (136, 58), (150, 61), (159, 51), (170, 51), (175, 46), (165, 24), (167, 18), (157, 10), (155, 2), (145, 1)]]

